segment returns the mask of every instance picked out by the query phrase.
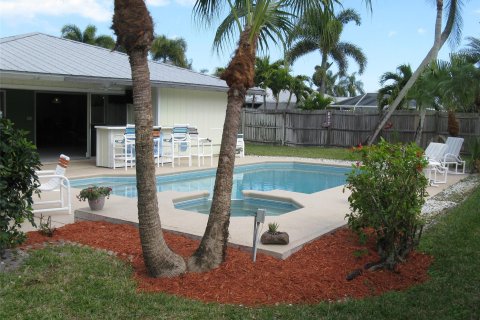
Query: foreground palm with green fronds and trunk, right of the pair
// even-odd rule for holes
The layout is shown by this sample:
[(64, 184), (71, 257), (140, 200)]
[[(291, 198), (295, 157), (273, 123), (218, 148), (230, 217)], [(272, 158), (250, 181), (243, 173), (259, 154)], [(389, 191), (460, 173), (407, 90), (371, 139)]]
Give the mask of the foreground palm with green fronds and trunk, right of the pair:
[(211, 23), (226, 6), (230, 10), (217, 29), (215, 48), (222, 48), (236, 32), (240, 38), (232, 60), (221, 75), (229, 89), (212, 207), (200, 246), (188, 260), (189, 270), (213, 269), (225, 259), (240, 112), (247, 90), (254, 85), (257, 45), (266, 49), (268, 40), (283, 42), (293, 28), (294, 14), (301, 15), (305, 9), (324, 3), (324, 0), (197, 0), (195, 3), (194, 13), (205, 23)]

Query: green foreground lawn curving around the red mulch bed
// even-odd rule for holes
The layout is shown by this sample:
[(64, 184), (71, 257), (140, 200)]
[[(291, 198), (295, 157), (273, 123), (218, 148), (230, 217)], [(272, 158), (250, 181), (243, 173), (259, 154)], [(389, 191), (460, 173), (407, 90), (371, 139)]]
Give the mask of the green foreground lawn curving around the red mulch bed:
[(431, 279), (402, 292), (317, 305), (247, 308), (138, 293), (129, 265), (85, 247), (31, 251), (0, 274), (0, 319), (479, 319), (480, 188), (422, 238)]

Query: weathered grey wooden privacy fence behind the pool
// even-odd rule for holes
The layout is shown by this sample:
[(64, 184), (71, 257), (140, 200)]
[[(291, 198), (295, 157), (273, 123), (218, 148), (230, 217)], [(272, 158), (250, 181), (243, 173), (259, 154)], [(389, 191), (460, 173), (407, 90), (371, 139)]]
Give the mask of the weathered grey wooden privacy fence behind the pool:
[[(479, 113), (457, 113), (459, 136), (480, 136)], [(341, 110), (248, 110), (242, 112), (242, 132), (251, 142), (303, 146), (351, 147), (363, 143), (380, 118), (378, 111)], [(410, 142), (420, 120), (418, 111), (395, 111), (381, 136), (387, 141)], [(439, 135), (448, 136), (446, 112), (428, 111), (421, 147)], [(467, 143), (464, 151), (467, 151)]]

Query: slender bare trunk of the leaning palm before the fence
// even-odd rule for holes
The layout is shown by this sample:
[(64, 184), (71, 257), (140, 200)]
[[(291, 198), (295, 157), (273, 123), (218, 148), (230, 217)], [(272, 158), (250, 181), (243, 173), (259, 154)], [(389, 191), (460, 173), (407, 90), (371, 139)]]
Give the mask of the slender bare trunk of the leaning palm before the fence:
[(383, 118), (378, 123), (374, 133), (367, 139), (367, 144), (372, 145), (375, 142), (378, 134), (382, 130), (382, 128), (387, 123), (388, 119), (392, 116), (395, 109), (397, 109), (400, 102), (405, 98), (407, 95), (408, 90), (413, 86), (417, 78), (423, 72), (425, 67), (438, 56), (438, 51), (443, 46), (445, 41), (447, 41), (454, 24), (454, 17), (457, 12), (457, 0), (450, 1), (450, 12), (447, 19), (447, 24), (445, 25), (445, 29), (441, 32), (442, 27), (442, 15), (443, 15), (443, 0), (437, 0), (437, 16), (435, 19), (435, 41), (433, 43), (432, 48), (428, 52), (427, 56), (423, 59), (422, 63), (418, 66), (417, 70), (413, 73), (410, 79), (407, 81), (405, 86), (400, 90), (397, 98), (393, 101), (393, 103), (388, 107), (387, 112), (384, 114)]

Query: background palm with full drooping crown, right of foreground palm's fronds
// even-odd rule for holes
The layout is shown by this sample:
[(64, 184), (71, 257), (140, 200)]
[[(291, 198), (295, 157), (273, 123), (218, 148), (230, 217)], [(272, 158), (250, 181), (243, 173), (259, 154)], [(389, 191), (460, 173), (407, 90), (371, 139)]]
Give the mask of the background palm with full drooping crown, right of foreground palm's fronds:
[[(287, 53), (287, 57), (293, 63), (299, 57), (319, 50), (322, 56), (320, 67), (316, 72), (319, 73), (319, 92), (326, 92), (326, 74), (328, 69), (335, 62), (339, 69), (340, 76), (346, 75), (348, 69), (348, 57), (351, 57), (359, 66), (359, 74), (362, 74), (367, 65), (367, 58), (362, 49), (349, 42), (340, 42), (340, 36), (343, 31), (343, 25), (354, 21), (360, 25), (359, 14), (353, 10), (343, 10), (337, 16), (332, 16), (328, 11), (319, 8), (307, 12), (291, 36), (290, 42), (293, 43)], [(333, 61), (329, 62), (331, 58)]]

